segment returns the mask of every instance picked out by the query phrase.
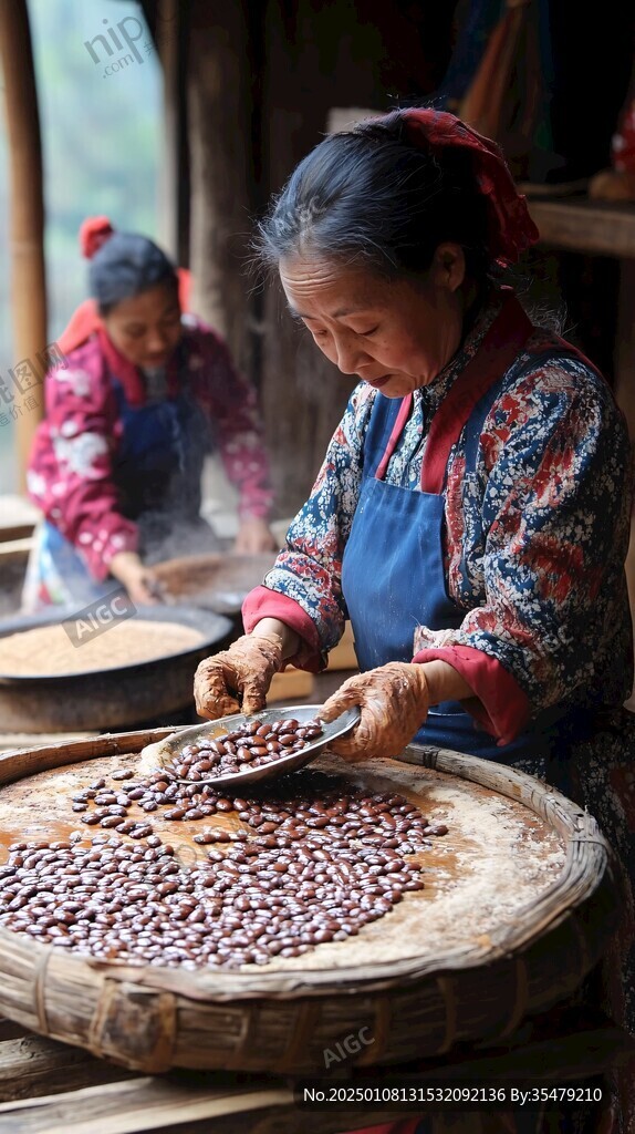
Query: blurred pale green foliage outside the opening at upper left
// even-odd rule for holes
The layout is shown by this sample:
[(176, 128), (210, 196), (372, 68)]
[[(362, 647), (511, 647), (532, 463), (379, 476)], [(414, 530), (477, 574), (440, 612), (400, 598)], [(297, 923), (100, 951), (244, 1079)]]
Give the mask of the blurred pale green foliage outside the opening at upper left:
[[(77, 240), (85, 217), (105, 213), (115, 228), (157, 236), (161, 70), (140, 6), (134, 0), (28, 0), (28, 10), (44, 156), (51, 341), (86, 296), (86, 261)], [(128, 20), (125, 28), (136, 41), (136, 52), (122, 39), (122, 20)], [(96, 41), (100, 35), (104, 41)], [(87, 42), (93, 42), (93, 53)], [(117, 46), (118, 42), (122, 49)], [(100, 62), (95, 62), (94, 54)], [(126, 57), (131, 57), (131, 61), (121, 62), (119, 70), (106, 74), (109, 65), (112, 67)], [(15, 361), (8, 160), (3, 117), (0, 132), (0, 371), (3, 374)], [(5, 426), (0, 430), (0, 492), (14, 489), (11, 430)]]

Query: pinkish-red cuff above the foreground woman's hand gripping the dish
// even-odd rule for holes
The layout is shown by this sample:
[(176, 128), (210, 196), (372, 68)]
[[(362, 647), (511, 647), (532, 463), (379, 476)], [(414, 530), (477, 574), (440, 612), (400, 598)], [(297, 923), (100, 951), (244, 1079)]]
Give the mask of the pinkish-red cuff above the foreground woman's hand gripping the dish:
[(456, 669), (474, 691), (479, 701), (466, 701), (465, 708), (499, 745), (509, 744), (525, 728), (530, 719), (527, 696), (496, 658), (470, 645), (448, 645), (420, 650), (412, 660), (420, 663), (435, 659)]

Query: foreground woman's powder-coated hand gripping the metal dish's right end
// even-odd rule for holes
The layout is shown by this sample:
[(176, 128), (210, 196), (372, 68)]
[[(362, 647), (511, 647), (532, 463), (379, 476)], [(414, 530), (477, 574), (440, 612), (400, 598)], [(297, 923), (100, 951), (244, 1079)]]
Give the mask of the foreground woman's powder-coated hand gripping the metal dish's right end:
[(423, 667), (391, 661), (350, 677), (325, 702), (319, 718), (332, 721), (346, 709), (359, 705), (359, 725), (329, 744), (329, 750), (346, 760), (397, 756), (424, 723), (429, 704)]

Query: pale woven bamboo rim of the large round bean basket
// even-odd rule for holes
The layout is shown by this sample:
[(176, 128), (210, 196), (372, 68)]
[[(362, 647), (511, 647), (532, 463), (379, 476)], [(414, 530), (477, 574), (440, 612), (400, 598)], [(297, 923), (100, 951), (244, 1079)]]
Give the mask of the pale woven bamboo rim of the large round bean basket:
[[(138, 730), (134, 733), (103, 734), (88, 741), (14, 750), (0, 754), (0, 787), (27, 776), (53, 768), (67, 767), (84, 760), (108, 758), (139, 752), (147, 744), (156, 743), (180, 731), (174, 728)], [(0, 953), (14, 957), (37, 958), (38, 983), (43, 984), (48, 968), (60, 975), (72, 968), (74, 980), (81, 972), (98, 973), (112, 988), (114, 984), (136, 987), (147, 992), (171, 992), (194, 1001), (237, 1001), (254, 999), (297, 999), (328, 995), (372, 993), (394, 987), (414, 984), (424, 979), (440, 978), (444, 973), (483, 968), (497, 960), (522, 954), (544, 938), (563, 922), (569, 920), (575, 937), (584, 941), (584, 925), (577, 911), (589, 902), (600, 882), (612, 885), (611, 852), (597, 821), (555, 788), (524, 772), (494, 764), (478, 756), (470, 756), (447, 748), (411, 745), (403, 753), (404, 762), (421, 765), (461, 779), (492, 787), (492, 772), (500, 782), (494, 788), (498, 794), (523, 804), (540, 815), (560, 836), (566, 858), (557, 879), (532, 903), (517, 911), (514, 925), (489, 933), (490, 946), (477, 950), (471, 946), (455, 947), (443, 955), (426, 959), (407, 957), (403, 960), (372, 960), (363, 965), (336, 970), (294, 970), (273, 973), (215, 972), (211, 970), (181, 971), (160, 966), (141, 966), (100, 962), (77, 954), (67, 954), (36, 941), (23, 941), (10, 930), (0, 928)], [(466, 775), (469, 772), (470, 775)], [(541, 804), (541, 806), (538, 806)], [(567, 898), (565, 902), (564, 898)], [(531, 921), (527, 921), (531, 913)], [(583, 953), (584, 953), (583, 948)], [(0, 957), (0, 971), (1, 971)], [(94, 978), (93, 978), (94, 979)]]

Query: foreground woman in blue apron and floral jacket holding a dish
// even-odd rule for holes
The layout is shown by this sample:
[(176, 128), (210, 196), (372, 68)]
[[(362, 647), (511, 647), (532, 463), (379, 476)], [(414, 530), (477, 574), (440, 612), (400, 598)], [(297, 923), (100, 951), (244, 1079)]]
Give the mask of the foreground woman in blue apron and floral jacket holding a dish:
[(350, 618), (361, 672), (321, 716), (361, 719), (335, 751), (414, 738), (635, 815), (606, 789), (619, 744), (592, 763), (599, 716), (630, 687), (628, 439), (592, 364), (496, 282), (537, 237), (497, 147), (447, 113), (369, 120), (300, 163), (261, 252), (358, 384), (247, 635), (199, 667), (197, 705), (259, 710), (286, 663), (324, 668)]

